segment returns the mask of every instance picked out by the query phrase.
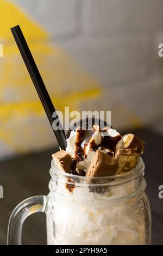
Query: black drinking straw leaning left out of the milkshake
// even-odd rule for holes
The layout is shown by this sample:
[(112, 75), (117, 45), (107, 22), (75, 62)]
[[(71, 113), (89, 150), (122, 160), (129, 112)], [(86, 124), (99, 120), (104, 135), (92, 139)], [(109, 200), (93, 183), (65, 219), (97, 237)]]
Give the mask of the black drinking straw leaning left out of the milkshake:
[[(12, 32), (12, 35), (14, 36), (17, 47), (20, 50), (24, 63), (26, 64), (29, 75), (32, 78), (35, 89), (37, 91), (37, 94), (40, 97), (40, 100), (42, 102), (43, 108), (45, 109), (49, 122), (51, 123), (51, 126), (52, 126), (53, 121), (58, 119), (58, 115), (56, 115), (55, 118), (52, 117), (52, 114), (55, 112), (55, 108), (53, 106), (51, 98), (49, 97), (45, 84), (43, 83), (40, 72), (37, 69), (32, 53), (29, 50), (26, 39), (24, 38), (24, 35), (19, 25), (11, 28), (11, 32)], [(59, 126), (61, 127), (61, 124)], [(60, 145), (60, 148), (65, 150), (67, 143), (66, 143), (66, 135), (65, 135), (64, 129), (61, 129), (61, 130), (58, 129), (57, 131), (55, 130), (53, 131), (55, 133), (55, 136), (57, 137), (57, 141)]]

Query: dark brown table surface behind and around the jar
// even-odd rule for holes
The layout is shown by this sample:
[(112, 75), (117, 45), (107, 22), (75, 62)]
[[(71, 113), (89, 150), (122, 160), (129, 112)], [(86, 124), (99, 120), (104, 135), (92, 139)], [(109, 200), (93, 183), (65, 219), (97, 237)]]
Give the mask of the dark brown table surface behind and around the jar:
[[(132, 131), (146, 141), (143, 160), (146, 163), (147, 194), (152, 206), (152, 243), (163, 245), (163, 199), (158, 197), (158, 187), (163, 185), (162, 136), (142, 129)], [(0, 185), (4, 198), (0, 199), (0, 245), (7, 243), (8, 221), (12, 210), (23, 199), (48, 193), (51, 155), (56, 148), (41, 153), (16, 157), (0, 163)], [(46, 216), (30, 216), (23, 227), (24, 245), (46, 244)]]

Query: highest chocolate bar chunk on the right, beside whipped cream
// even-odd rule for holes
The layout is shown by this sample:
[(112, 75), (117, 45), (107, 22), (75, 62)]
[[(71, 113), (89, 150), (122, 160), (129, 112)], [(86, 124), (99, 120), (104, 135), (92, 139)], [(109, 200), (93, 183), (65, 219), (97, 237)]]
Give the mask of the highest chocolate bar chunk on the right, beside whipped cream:
[(129, 133), (123, 136), (124, 149), (136, 149), (137, 154), (143, 153), (143, 148), (145, 147), (145, 142), (135, 135)]

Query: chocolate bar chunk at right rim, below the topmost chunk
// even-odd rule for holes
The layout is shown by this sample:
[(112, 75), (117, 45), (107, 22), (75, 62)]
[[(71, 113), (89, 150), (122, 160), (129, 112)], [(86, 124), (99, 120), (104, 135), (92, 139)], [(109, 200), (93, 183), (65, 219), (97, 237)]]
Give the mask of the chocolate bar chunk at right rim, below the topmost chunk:
[(116, 174), (122, 174), (133, 169), (139, 161), (140, 155), (136, 149), (118, 149), (115, 159), (118, 161), (118, 170)]

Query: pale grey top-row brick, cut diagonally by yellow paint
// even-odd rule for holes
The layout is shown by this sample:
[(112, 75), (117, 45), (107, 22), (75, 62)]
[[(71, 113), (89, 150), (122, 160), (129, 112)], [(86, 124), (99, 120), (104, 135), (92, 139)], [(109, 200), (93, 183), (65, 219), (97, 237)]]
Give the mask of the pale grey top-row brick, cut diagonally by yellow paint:
[(49, 32), (51, 36), (67, 36), (78, 32), (78, 0), (11, 0)]

